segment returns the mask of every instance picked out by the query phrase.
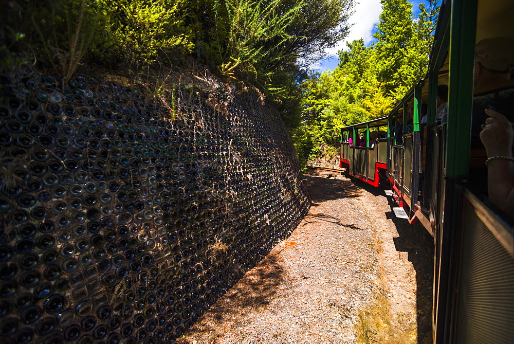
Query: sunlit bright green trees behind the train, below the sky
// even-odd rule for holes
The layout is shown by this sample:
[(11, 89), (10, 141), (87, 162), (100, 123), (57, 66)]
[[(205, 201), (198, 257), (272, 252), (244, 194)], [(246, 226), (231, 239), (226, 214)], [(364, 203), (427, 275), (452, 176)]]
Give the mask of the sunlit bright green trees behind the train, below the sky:
[(304, 121), (293, 137), (304, 162), (330, 151), (324, 146), (339, 147), (344, 126), (386, 116), (426, 74), (438, 1), (419, 5), (416, 16), (407, 0), (381, 3), (376, 43), (347, 43), (337, 68), (310, 74), (303, 83)]

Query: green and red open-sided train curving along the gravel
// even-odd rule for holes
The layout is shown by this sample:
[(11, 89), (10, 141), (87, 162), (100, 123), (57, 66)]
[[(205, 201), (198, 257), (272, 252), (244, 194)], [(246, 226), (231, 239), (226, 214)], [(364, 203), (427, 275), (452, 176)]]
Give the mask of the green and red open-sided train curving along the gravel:
[[(479, 97), (473, 89), (475, 44), (514, 38), (513, 15), (511, 1), (444, 1), (427, 77), (387, 117), (341, 132), (341, 168), (374, 186), (383, 170), (409, 222), (420, 221), (434, 237), (434, 342), (514, 338), (514, 214), (487, 200), (487, 156), (476, 143), (473, 128), (480, 123), (472, 116)], [(449, 89), (447, 123), (436, 118), (441, 84)], [(428, 105), (426, 124), (421, 123), (422, 103)], [(506, 104), (514, 109), (514, 103)], [(370, 128), (382, 125), (387, 138), (372, 148)], [(366, 147), (348, 143), (362, 129), (367, 130)]]

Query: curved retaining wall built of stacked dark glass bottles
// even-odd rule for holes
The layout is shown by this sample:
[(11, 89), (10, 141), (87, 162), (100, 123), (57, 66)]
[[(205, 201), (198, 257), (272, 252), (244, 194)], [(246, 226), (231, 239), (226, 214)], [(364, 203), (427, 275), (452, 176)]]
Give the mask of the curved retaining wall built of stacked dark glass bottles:
[(308, 210), (256, 94), (0, 79), (2, 342), (173, 341)]

